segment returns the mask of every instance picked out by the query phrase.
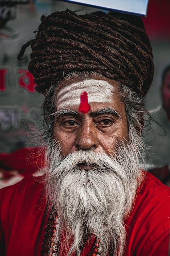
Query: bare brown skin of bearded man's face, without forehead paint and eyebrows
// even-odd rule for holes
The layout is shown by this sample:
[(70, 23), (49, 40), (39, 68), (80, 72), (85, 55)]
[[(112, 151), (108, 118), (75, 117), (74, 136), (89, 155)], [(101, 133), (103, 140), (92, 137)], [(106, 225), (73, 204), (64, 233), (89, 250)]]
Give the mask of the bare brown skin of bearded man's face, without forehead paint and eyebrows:
[[(99, 80), (97, 77), (93, 79)], [(95, 149), (96, 152), (105, 152), (107, 155), (114, 155), (117, 143), (129, 141), (128, 123), (126, 120), (125, 106), (121, 102), (120, 94), (118, 92), (118, 82), (108, 79), (107, 81), (113, 86), (113, 91), (109, 97), (111, 101), (107, 102), (88, 102), (90, 111), (86, 114), (79, 112), (80, 104), (67, 104), (69, 110), (79, 112), (78, 116), (68, 114), (55, 117), (53, 125), (53, 138), (55, 138), (62, 146), (62, 155), (67, 156), (69, 153), (77, 150)], [(78, 80), (77, 80), (78, 81)], [(76, 81), (76, 82), (77, 82)], [(74, 80), (75, 82), (75, 80)], [(67, 80), (59, 84), (56, 96), (60, 90), (69, 86), (73, 82)], [(79, 96), (80, 97), (80, 96)], [(119, 115), (103, 113), (100, 115), (93, 115), (92, 112), (102, 110), (105, 108), (115, 109)], [(55, 102), (55, 111), (62, 110), (60, 105)], [(80, 166), (87, 169), (87, 166)], [(90, 167), (88, 167), (90, 168)]]

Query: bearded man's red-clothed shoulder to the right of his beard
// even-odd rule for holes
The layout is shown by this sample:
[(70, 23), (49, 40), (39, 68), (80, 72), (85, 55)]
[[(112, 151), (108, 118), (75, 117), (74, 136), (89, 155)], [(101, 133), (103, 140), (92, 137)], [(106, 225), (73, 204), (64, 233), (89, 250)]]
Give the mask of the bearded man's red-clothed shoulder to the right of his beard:
[(170, 227), (170, 188), (152, 174), (136, 196), (133, 210), (125, 220), (128, 239), (135, 255), (168, 255)]

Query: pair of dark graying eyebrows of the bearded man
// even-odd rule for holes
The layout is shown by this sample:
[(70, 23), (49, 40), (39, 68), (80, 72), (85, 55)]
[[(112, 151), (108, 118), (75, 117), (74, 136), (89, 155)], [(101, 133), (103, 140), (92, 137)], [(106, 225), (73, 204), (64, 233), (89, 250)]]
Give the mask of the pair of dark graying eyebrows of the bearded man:
[[(90, 116), (92, 116), (92, 117), (99, 116), (102, 114), (111, 114), (114, 116), (116, 115), (117, 117), (121, 118), (120, 113), (113, 108), (105, 108), (105, 109), (100, 109), (97, 111), (90, 112)], [(71, 109), (57, 110), (52, 115), (55, 115), (57, 118), (60, 117), (61, 115), (68, 115), (68, 116), (75, 116), (75, 117), (80, 116), (78, 111), (71, 110)]]

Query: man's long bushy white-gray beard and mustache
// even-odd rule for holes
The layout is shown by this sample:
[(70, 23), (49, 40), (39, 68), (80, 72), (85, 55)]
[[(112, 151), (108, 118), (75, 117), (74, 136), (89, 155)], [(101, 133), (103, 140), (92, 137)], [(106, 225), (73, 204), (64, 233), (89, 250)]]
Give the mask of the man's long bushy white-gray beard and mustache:
[[(68, 255), (87, 240), (88, 234), (100, 240), (100, 255), (123, 255), (126, 236), (123, 220), (132, 209), (138, 185), (142, 181), (139, 159), (133, 147), (117, 146), (116, 158), (93, 151), (72, 152), (65, 158), (57, 143), (47, 150), (49, 165), (46, 175), (48, 203), (58, 210), (60, 229), (70, 241)], [(86, 162), (96, 168), (82, 170)], [(68, 246), (66, 242), (66, 246)]]

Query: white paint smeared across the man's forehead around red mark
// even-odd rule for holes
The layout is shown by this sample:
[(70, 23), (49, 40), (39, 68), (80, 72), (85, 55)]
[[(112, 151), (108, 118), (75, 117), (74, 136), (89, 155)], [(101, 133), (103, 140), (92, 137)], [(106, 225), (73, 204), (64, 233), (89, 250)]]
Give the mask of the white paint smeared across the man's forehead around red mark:
[(111, 102), (114, 87), (104, 80), (87, 79), (72, 83), (57, 94), (57, 109), (64, 109), (70, 105), (80, 104), (82, 91), (88, 94), (89, 102)]

